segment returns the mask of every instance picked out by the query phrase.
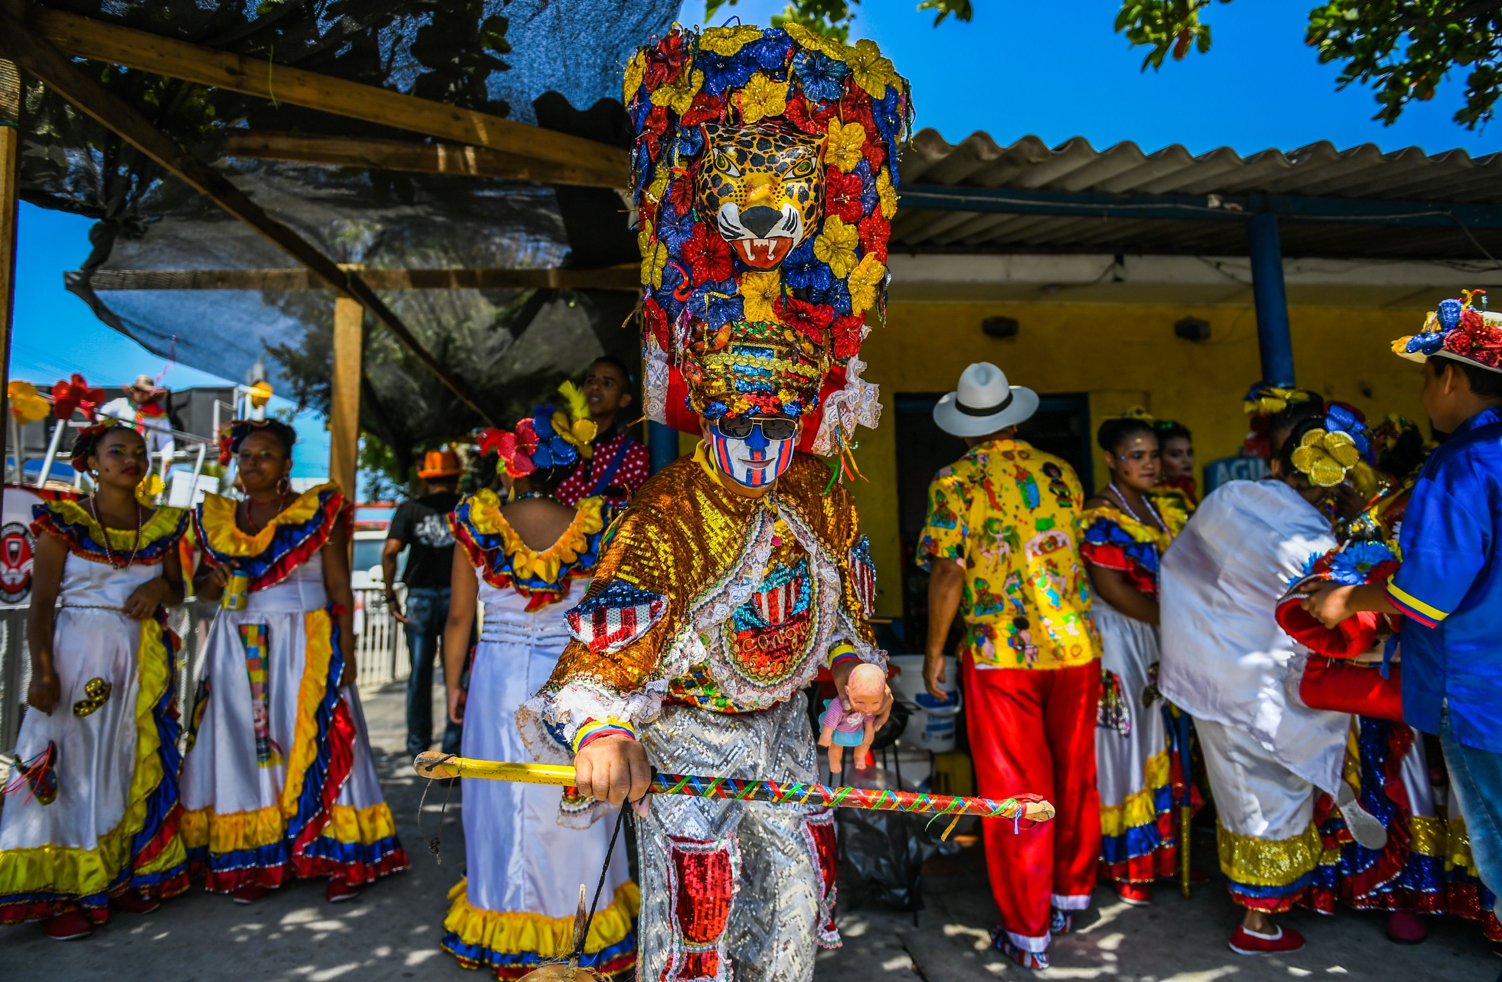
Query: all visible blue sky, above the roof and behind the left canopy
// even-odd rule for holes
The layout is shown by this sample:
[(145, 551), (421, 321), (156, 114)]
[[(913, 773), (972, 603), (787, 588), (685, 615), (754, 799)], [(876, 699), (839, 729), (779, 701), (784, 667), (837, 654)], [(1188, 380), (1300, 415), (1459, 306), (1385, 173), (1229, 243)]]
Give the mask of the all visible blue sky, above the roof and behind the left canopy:
[[(937, 29), (931, 15), (916, 11), (916, 0), (865, 0), (853, 36), (882, 45), (913, 83), (918, 126), (933, 126), (951, 141), (985, 131), (1000, 144), (1033, 134), (1048, 144), (1084, 137), (1095, 147), (1131, 140), (1148, 152), (1182, 143), (1196, 153), (1220, 146), (1254, 153), (1319, 140), (1341, 149), (1374, 143), (1430, 153), (1460, 147), (1473, 156), (1502, 150), (1502, 125), (1478, 134), (1451, 122), (1463, 77), (1440, 86), (1431, 102), (1410, 105), (1397, 125), (1373, 122), (1371, 92), (1335, 92), (1337, 66), (1319, 65), (1304, 45), (1311, 3), (1212, 5), (1211, 53), (1160, 72), (1140, 72), (1142, 51), (1111, 32), (1116, 0), (975, 0), (972, 23), (949, 20)], [(740, 0), (716, 21), (739, 15), (766, 24), (783, 6), (783, 0)], [(679, 20), (698, 24), (703, 12), (703, 0), (689, 2)], [(192, 368), (167, 366), (63, 290), (63, 272), (89, 254), (90, 224), (21, 206), (12, 377), (50, 384), (77, 371), (96, 384), (119, 384), (165, 369), (162, 383), (174, 389), (218, 384)], [(323, 420), (309, 414), (299, 429), (309, 438), (299, 470), (321, 467), (312, 461), (327, 452)]]

